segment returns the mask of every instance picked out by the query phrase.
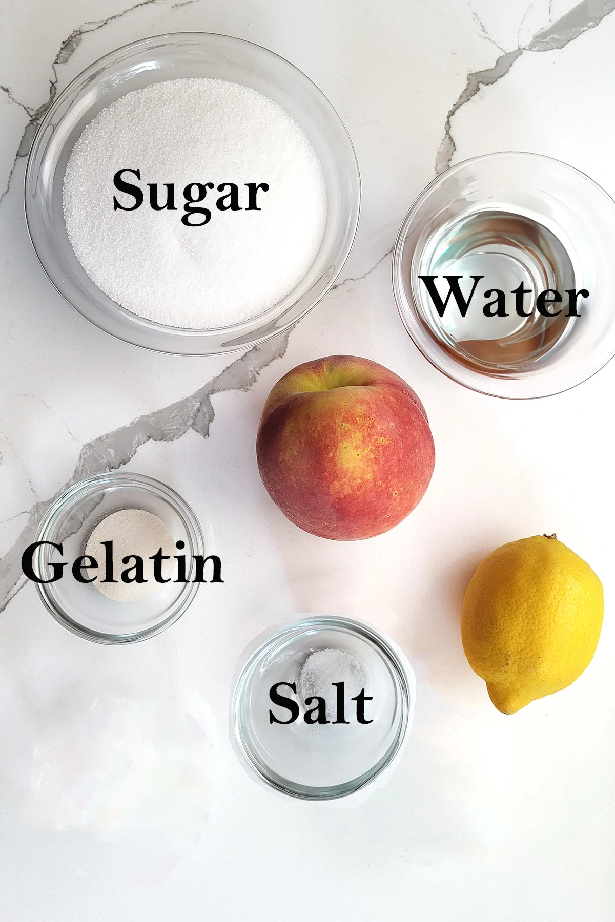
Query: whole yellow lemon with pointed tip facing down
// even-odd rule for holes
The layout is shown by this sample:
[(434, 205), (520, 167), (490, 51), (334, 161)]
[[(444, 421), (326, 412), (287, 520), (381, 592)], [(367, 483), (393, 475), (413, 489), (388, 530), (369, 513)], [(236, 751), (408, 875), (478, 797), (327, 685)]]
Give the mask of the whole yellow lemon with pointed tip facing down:
[(596, 573), (555, 535), (504, 544), (467, 586), (461, 638), (491, 701), (514, 714), (574, 682), (596, 652), (604, 598)]

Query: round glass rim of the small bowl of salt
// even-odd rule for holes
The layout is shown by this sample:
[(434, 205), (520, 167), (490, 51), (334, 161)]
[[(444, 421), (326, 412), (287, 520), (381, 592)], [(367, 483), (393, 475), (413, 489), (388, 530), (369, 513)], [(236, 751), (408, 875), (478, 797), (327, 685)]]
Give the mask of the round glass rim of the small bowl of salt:
[[(337, 785), (312, 786), (290, 781), (290, 779), (269, 769), (257, 757), (242, 732), (244, 694), (253, 675), (254, 668), (285, 639), (311, 631), (314, 628), (329, 628), (349, 632), (355, 636), (359, 635), (363, 640), (373, 644), (391, 669), (399, 692), (399, 726), (397, 727), (395, 738), (387, 751), (365, 772)], [(260, 636), (262, 637), (263, 635), (261, 634)], [(402, 751), (411, 732), (416, 700), (416, 680), (412, 667), (405, 660), (406, 657), (397, 648), (395, 642), (375, 628), (373, 624), (344, 615), (304, 614), (299, 616), (298, 621), (279, 626), (273, 632), (266, 632), (265, 639), (257, 643), (253, 652), (242, 663), (238, 678), (234, 683), (231, 695), (230, 720), (233, 748), (239, 751), (244, 766), (254, 773), (257, 780), (265, 783), (267, 787), (278, 791), (280, 794), (300, 800), (312, 801), (334, 800), (356, 794), (362, 788), (371, 785), (379, 775), (383, 774), (396, 761), (396, 757)]]

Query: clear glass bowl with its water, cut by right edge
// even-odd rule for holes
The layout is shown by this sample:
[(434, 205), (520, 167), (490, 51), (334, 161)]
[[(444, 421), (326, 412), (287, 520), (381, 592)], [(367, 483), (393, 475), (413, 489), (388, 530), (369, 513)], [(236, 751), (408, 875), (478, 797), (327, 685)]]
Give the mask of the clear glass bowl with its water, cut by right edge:
[(558, 394), (615, 355), (614, 240), (615, 202), (585, 173), (521, 152), (465, 160), (402, 223), (397, 309), (425, 358), (459, 384)]

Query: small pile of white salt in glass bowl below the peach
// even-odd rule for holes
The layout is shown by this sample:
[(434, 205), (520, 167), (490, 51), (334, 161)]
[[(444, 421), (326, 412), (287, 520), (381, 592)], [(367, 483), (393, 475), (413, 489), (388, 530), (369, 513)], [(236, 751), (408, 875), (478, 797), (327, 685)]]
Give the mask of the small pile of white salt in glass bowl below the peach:
[(366, 689), (367, 670), (361, 660), (348, 650), (327, 648), (316, 650), (303, 663), (297, 691), (302, 701), (311, 697), (324, 698), (328, 719), (337, 713), (337, 689), (334, 682), (344, 682), (346, 700)]

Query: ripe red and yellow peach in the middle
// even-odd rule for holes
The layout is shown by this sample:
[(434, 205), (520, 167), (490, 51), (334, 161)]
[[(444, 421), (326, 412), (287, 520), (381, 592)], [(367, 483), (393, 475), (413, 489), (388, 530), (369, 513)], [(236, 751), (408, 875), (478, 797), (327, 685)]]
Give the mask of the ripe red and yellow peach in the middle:
[(266, 399), (256, 459), (271, 499), (321, 538), (373, 538), (420, 502), (434, 448), (425, 410), (394, 372), (349, 355), (308, 361)]

